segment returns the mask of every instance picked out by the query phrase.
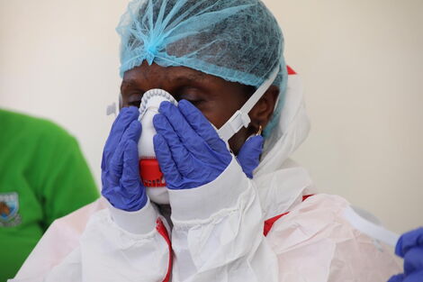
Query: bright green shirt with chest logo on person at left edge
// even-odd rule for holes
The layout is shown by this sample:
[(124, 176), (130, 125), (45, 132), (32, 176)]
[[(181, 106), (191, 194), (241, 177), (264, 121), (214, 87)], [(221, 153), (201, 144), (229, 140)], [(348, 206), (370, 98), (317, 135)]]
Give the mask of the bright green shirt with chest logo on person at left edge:
[(98, 196), (75, 138), (0, 110), (0, 282), (14, 277), (50, 223)]

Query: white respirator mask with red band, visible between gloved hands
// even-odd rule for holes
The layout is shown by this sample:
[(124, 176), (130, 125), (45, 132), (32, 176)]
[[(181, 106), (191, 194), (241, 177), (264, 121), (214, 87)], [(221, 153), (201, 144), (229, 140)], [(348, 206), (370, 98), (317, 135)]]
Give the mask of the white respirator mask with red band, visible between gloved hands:
[(153, 137), (156, 135), (156, 129), (153, 117), (158, 114), (158, 107), (163, 101), (177, 105), (175, 98), (162, 89), (148, 90), (142, 96), (139, 105), (139, 123), (142, 125), (142, 132), (138, 142), (139, 176), (147, 189), (149, 199), (162, 205), (169, 204), (169, 195), (165, 177), (158, 166), (154, 151)]

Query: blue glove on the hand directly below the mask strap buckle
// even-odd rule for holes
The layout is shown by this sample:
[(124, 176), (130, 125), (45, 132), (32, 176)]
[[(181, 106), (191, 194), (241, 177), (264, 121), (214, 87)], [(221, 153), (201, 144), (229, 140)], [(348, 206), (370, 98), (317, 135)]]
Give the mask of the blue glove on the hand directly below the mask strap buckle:
[(167, 187), (190, 189), (219, 177), (232, 156), (205, 116), (186, 100), (162, 102), (158, 112), (154, 150)]

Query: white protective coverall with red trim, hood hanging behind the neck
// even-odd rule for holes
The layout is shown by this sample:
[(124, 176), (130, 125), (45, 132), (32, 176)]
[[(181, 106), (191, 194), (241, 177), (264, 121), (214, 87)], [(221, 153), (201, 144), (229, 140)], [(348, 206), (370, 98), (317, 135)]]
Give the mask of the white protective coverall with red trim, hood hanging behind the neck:
[(124, 212), (100, 199), (55, 221), (9, 281), (384, 282), (401, 272), (390, 248), (347, 222), (347, 201), (315, 195), (288, 159), (310, 128), (299, 79), (289, 76), (254, 181), (232, 159), (211, 183), (170, 191), (172, 230), (155, 205)]

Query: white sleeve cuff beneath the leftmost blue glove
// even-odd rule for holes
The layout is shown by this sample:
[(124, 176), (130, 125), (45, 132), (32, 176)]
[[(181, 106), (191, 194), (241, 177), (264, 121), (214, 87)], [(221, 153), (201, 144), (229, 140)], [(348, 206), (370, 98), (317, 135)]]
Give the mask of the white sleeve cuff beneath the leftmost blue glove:
[(110, 204), (109, 210), (113, 222), (127, 232), (133, 234), (147, 234), (156, 228), (158, 214), (153, 205), (149, 202), (149, 199), (147, 200), (147, 204), (136, 212), (123, 211)]

